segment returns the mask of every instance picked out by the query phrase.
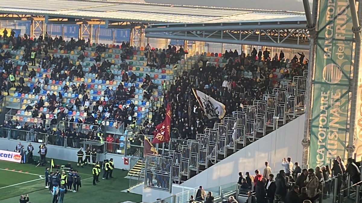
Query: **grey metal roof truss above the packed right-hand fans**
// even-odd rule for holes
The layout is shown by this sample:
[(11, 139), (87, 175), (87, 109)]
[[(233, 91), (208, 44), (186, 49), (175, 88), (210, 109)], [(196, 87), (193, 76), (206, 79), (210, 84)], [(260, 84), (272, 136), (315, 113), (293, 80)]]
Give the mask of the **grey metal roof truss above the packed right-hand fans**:
[[(221, 23), (220, 25), (151, 25), (146, 37), (214, 43), (245, 44), (281, 48), (309, 49), (310, 35), (303, 23), (261, 25)], [(165, 35), (165, 32), (168, 35)]]

